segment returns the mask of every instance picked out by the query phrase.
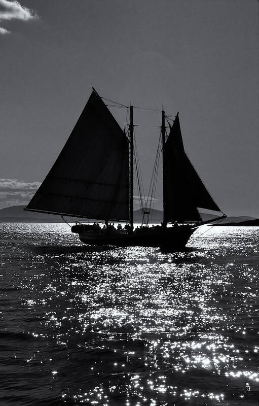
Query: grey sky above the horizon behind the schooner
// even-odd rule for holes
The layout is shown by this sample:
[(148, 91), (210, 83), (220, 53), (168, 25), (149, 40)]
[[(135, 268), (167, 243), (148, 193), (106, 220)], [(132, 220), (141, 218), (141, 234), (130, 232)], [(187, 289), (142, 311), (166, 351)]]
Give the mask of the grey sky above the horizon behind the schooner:
[[(258, 8), (256, 0), (0, 0), (0, 208), (29, 201), (94, 86), (127, 106), (179, 111), (186, 151), (221, 210), (259, 217)], [(123, 125), (126, 110), (110, 110)], [(134, 122), (147, 191), (161, 115), (134, 109)]]

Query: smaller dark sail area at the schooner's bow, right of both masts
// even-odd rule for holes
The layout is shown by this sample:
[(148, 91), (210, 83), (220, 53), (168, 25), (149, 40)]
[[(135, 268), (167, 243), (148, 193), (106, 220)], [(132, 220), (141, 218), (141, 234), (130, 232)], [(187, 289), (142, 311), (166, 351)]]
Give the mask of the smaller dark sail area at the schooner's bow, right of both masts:
[(220, 211), (184, 151), (178, 113), (165, 143), (166, 222), (200, 221), (197, 208)]

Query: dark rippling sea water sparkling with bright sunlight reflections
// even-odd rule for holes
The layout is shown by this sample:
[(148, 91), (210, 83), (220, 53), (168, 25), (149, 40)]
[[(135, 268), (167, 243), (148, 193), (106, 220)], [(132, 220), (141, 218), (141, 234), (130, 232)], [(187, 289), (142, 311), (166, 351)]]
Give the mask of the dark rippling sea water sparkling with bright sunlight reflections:
[(1, 406), (257, 406), (258, 238), (107, 250), (66, 224), (0, 224)]

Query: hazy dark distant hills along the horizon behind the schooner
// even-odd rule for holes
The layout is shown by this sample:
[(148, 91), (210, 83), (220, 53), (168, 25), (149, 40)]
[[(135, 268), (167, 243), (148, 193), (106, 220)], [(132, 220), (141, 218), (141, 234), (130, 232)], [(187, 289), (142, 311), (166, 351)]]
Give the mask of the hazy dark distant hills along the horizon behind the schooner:
[[(55, 214), (44, 214), (44, 213), (36, 213), (36, 212), (27, 212), (23, 209), (25, 206), (11, 206), (6, 207), (5, 209), (0, 210), (0, 222), (6, 223), (62, 223), (63, 220), (60, 216)], [(217, 216), (201, 213), (202, 219), (204, 221), (215, 218)], [(87, 219), (77, 218), (77, 217), (69, 217), (65, 216), (65, 219), (68, 222), (75, 223), (76, 221), (85, 221)], [(150, 223), (161, 223), (163, 220), (163, 212), (161, 210), (151, 209), (150, 213)], [(221, 225), (226, 223), (241, 223), (241, 222), (249, 222), (255, 220), (254, 217), (249, 216), (239, 216), (239, 217), (227, 217), (226, 219), (220, 222)], [(91, 222), (94, 221), (93, 219), (90, 220)], [(134, 222), (141, 223), (142, 221), (142, 209), (138, 209), (134, 211)]]

